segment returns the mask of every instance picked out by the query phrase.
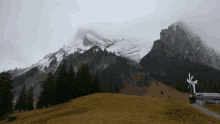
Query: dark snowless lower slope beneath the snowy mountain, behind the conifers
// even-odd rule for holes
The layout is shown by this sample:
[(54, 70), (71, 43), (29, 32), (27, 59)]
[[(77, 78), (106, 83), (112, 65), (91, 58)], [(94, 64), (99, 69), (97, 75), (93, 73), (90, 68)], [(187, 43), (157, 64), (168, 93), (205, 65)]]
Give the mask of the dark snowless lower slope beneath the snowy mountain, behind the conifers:
[[(53, 55), (51, 55), (48, 59), (51, 58), (53, 58)], [(104, 85), (102, 90), (105, 90), (110, 83), (123, 88), (124, 86), (122, 80), (131, 80), (131, 82), (135, 83), (135, 81), (133, 81), (131, 78), (133, 75), (142, 74), (148, 77), (148, 73), (140, 68), (135, 61), (114, 55), (113, 53), (107, 51), (103, 51), (99, 46), (93, 46), (83, 53), (75, 52), (74, 54), (70, 54), (66, 57), (66, 60), (66, 70), (68, 70), (70, 64), (72, 64), (74, 71), (77, 72), (82, 64), (87, 63), (92, 75), (94, 75), (95, 72), (98, 72), (100, 80)], [(16, 99), (20, 93), (19, 90), (22, 88), (20, 82), (24, 82), (27, 87), (33, 86), (34, 97), (39, 97), (40, 92), (42, 91), (41, 84), (45, 79), (46, 74), (54, 68), (56, 70), (54, 70), (53, 73), (55, 73), (55, 76), (58, 76), (58, 71), (63, 64), (63, 60), (60, 61), (59, 65), (56, 61), (54, 61), (54, 63), (55, 64), (52, 64), (51, 61), (49, 67), (44, 68), (44, 72), (36, 70), (35, 72), (31, 73), (31, 71), (28, 71), (25, 74), (14, 78), (14, 84), (17, 86), (16, 89), (13, 90), (15, 95), (14, 102), (16, 102)], [(35, 67), (35, 69), (38, 68)]]

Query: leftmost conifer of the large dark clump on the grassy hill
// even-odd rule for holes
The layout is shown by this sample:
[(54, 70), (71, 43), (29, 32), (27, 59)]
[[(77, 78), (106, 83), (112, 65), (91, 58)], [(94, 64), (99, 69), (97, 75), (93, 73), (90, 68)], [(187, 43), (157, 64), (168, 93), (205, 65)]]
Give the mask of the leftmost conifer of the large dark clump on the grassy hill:
[(49, 105), (56, 105), (55, 77), (51, 71), (47, 74), (47, 77), (45, 81), (43, 81), (41, 87), (42, 91), (37, 101), (37, 108), (43, 108), (44, 106), (48, 107)]

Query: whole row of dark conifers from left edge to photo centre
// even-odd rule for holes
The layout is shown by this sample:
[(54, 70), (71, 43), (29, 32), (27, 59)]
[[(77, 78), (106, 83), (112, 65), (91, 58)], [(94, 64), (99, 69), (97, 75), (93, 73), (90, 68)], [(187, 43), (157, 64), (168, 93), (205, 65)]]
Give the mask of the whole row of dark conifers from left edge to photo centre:
[[(104, 53), (107, 53), (107, 51), (104, 50)], [(114, 53), (109, 53), (107, 55), (114, 55)], [(105, 57), (107, 57), (107, 55), (104, 54)], [(82, 64), (76, 74), (72, 64), (69, 66), (68, 72), (66, 70), (66, 66), (66, 59), (64, 56), (64, 62), (58, 71), (58, 76), (55, 76), (51, 71), (47, 74), (47, 77), (41, 85), (42, 91), (36, 105), (38, 109), (62, 104), (70, 101), (71, 99), (93, 93), (117, 93), (120, 92), (120, 87), (123, 87), (120, 85), (118, 86), (117, 82), (112, 79), (108, 80), (107, 83), (103, 83), (103, 81), (106, 79), (106, 76), (109, 74), (108, 71), (104, 71), (100, 74), (104, 77), (102, 78), (103, 81), (101, 81), (99, 78), (98, 72), (92, 76), (87, 63)], [(104, 76), (103, 74), (107, 75)], [(112, 70), (110, 74), (113, 74), (112, 78), (116, 78), (116, 74), (114, 74)], [(16, 105), (13, 106), (14, 96), (12, 90), (14, 89), (14, 86), (12, 82), (13, 81), (11, 80), (11, 75), (9, 72), (3, 72), (0, 74), (0, 118), (7, 114), (12, 114), (14, 110), (33, 110), (33, 86), (26, 91), (27, 89), (24, 84), (16, 101)]]

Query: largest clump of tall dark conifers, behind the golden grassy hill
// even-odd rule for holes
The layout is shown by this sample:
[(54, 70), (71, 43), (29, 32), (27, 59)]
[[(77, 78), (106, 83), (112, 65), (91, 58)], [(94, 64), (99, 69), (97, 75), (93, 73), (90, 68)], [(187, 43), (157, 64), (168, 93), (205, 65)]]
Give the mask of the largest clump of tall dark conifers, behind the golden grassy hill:
[(62, 104), (81, 96), (100, 92), (98, 73), (91, 75), (88, 64), (82, 64), (75, 74), (72, 64), (66, 70), (66, 59), (55, 77), (52, 72), (47, 74), (42, 84), (42, 91), (37, 101), (37, 108)]

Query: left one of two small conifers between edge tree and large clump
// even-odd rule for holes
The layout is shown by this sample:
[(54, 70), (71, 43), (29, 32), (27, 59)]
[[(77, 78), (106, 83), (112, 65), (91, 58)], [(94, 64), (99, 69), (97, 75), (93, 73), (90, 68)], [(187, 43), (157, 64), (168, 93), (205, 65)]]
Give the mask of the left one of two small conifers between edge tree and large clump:
[(26, 103), (27, 103), (26, 86), (24, 84), (22, 86), (21, 93), (20, 93), (20, 95), (18, 97), (18, 100), (16, 102), (15, 109), (19, 110), (19, 112), (21, 112), (21, 110), (25, 110), (26, 111), (27, 110)]

